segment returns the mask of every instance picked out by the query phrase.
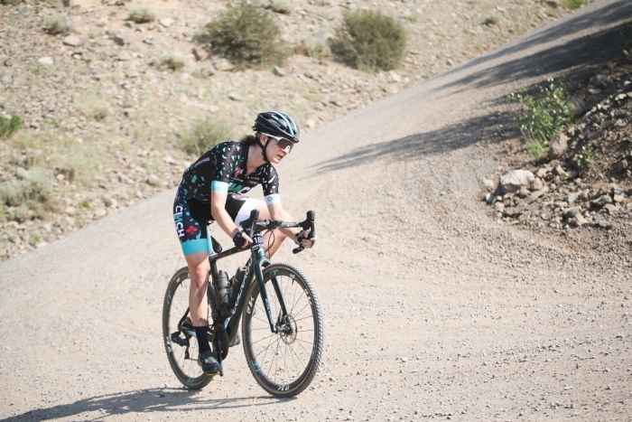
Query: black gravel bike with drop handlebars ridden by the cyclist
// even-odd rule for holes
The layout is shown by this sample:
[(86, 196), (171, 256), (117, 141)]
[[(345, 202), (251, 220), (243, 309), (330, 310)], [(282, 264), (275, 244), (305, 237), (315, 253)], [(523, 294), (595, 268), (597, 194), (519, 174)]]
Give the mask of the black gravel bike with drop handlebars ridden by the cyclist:
[[(250, 249), (232, 248), (222, 252), (212, 237), (209, 256), (209, 342), (219, 363), (228, 356), (228, 347), (238, 343), (237, 331), (243, 317), (242, 338), (248, 368), (259, 385), (275, 397), (293, 397), (313, 380), (324, 350), (321, 302), (311, 280), (301, 269), (287, 263), (271, 263), (265, 257), (262, 232), (277, 228), (302, 228), (315, 236), (314, 212), (302, 222), (257, 221), (254, 210), (241, 226), (253, 239)], [(293, 253), (302, 251), (299, 246)], [(238, 288), (230, 318), (219, 312), (219, 259), (250, 250), (245, 276)], [(191, 278), (188, 267), (173, 275), (163, 302), (164, 348), (178, 380), (189, 389), (201, 389), (213, 376), (205, 374), (197, 361), (198, 342), (189, 312)], [(271, 294), (268, 290), (272, 286)], [(210, 323), (212, 321), (212, 323)], [(223, 370), (219, 373), (223, 376)]]

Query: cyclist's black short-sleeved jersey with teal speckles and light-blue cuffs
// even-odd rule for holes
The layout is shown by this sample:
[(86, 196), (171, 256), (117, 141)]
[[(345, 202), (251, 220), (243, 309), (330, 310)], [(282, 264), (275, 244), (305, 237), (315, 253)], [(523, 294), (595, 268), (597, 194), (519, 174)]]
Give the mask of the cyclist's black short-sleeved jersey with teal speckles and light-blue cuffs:
[(182, 175), (181, 194), (185, 199), (210, 202), (210, 191), (246, 193), (261, 184), (265, 203), (278, 202), (279, 177), (270, 163), (257, 167), (246, 177), (249, 145), (224, 142), (209, 149)]

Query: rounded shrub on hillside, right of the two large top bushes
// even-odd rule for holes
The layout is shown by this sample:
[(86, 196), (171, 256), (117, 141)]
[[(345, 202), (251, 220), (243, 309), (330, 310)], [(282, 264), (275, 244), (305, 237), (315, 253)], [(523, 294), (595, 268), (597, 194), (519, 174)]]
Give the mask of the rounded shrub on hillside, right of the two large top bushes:
[(404, 25), (378, 11), (358, 10), (345, 14), (331, 51), (359, 70), (391, 70), (404, 59)]

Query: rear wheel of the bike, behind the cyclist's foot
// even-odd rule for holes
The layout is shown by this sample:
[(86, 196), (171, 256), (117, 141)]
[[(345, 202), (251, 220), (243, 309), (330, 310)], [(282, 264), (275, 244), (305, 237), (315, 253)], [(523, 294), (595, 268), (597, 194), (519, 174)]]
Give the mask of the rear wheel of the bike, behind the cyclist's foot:
[(198, 364), (198, 340), (193, 335), (189, 314), (190, 287), (189, 268), (182, 267), (173, 275), (164, 294), (163, 340), (169, 364), (178, 380), (188, 389), (201, 389), (213, 377), (207, 376)]

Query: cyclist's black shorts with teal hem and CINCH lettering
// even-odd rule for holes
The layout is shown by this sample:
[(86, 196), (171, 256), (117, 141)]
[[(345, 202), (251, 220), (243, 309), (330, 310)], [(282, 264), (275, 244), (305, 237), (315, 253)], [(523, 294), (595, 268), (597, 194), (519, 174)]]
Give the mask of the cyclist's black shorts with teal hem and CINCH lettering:
[[(256, 209), (257, 202), (255, 199), (237, 193), (228, 193), (225, 209), (237, 227), (241, 229), (239, 224), (250, 217), (250, 211)], [(209, 202), (199, 202), (192, 198), (187, 200), (180, 189), (176, 192), (173, 201), (173, 223), (184, 255), (196, 252), (213, 254), (209, 235), (209, 222), (213, 220), (215, 219), (210, 214)]]

